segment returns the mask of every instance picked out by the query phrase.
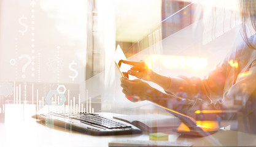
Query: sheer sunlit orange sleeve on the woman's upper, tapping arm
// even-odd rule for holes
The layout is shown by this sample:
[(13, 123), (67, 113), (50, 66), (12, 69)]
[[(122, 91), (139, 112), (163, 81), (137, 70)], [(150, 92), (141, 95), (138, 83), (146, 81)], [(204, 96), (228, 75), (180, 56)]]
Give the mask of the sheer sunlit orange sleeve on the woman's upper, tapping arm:
[[(200, 98), (207, 104), (211, 104), (212, 100), (222, 97), (225, 81), (227, 80), (228, 58), (225, 58), (206, 78), (171, 77), (171, 84), (166, 93), (177, 96), (180, 93), (185, 93), (183, 97), (190, 100)], [(179, 97), (179, 96), (177, 96)]]

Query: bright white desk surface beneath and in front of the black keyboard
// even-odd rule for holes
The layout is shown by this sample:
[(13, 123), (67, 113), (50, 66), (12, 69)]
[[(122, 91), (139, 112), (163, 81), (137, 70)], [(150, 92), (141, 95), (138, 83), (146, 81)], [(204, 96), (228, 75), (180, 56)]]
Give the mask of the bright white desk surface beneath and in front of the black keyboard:
[[(15, 108), (15, 111), (10, 111), (6, 107), (5, 123), (0, 123), (0, 146), (108, 146), (114, 140), (149, 140), (147, 134), (99, 137), (58, 126), (45, 126), (31, 118), (34, 114), (31, 109)], [(201, 138), (185, 138), (175, 133), (169, 135), (169, 141), (176, 140), (190, 141), (193, 146), (256, 146), (256, 135), (233, 130), (220, 130)]]

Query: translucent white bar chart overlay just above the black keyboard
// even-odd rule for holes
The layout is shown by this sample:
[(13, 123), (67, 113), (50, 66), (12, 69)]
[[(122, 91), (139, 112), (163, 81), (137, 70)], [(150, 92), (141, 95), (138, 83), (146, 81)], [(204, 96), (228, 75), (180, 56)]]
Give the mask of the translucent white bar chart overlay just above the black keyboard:
[[(36, 88), (34, 83), (18, 83), (13, 81), (13, 89), (12, 104), (36, 105), (36, 111), (41, 110), (46, 105), (61, 105), (65, 108), (66, 113), (95, 112), (95, 108), (91, 105), (92, 98), (88, 97), (88, 90), (86, 90), (86, 96), (81, 99), (80, 94), (78, 96), (71, 96), (72, 91), (70, 89), (66, 89), (65, 91), (52, 89), (48, 91), (46, 96), (42, 96), (40, 94), (41, 88)], [(47, 97), (49, 93), (50, 97)], [(5, 104), (0, 105), (0, 113), (4, 113), (4, 107)]]

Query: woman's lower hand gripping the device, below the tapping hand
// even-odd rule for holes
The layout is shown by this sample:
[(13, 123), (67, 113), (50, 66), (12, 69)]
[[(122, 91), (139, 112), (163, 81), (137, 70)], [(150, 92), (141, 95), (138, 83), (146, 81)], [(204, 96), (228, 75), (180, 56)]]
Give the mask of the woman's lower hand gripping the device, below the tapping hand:
[(128, 80), (128, 78), (120, 78), (120, 81), (125, 97), (132, 102), (152, 99), (154, 88), (145, 81), (139, 79)]

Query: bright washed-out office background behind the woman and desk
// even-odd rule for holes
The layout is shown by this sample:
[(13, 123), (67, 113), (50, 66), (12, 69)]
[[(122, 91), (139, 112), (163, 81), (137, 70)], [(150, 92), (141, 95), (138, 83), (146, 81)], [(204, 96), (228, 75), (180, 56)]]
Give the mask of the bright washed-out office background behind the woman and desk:
[(159, 113), (122, 93), (117, 45), (160, 74), (204, 78), (240, 29), (236, 0), (1, 0), (0, 121), (26, 121), (47, 99), (77, 112)]

